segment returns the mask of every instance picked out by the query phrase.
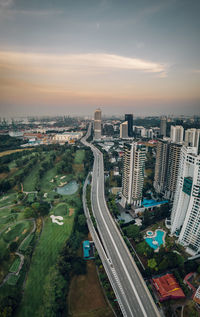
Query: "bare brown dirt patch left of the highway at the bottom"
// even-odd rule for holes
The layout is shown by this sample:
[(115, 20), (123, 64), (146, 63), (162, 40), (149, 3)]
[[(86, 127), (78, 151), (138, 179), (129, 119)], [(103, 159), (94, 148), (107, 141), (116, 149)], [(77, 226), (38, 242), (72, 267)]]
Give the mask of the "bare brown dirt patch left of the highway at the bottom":
[(105, 300), (93, 261), (87, 261), (86, 275), (75, 276), (72, 279), (69, 308), (73, 317), (114, 316)]

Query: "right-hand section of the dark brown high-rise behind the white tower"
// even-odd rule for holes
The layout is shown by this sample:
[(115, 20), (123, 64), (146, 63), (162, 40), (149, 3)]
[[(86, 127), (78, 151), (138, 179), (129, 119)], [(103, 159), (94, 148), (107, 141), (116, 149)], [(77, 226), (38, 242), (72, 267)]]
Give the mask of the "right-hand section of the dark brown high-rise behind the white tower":
[(169, 143), (168, 145), (168, 164), (166, 174), (166, 188), (164, 196), (169, 200), (174, 199), (176, 192), (176, 184), (178, 179), (178, 171), (180, 164), (182, 144)]

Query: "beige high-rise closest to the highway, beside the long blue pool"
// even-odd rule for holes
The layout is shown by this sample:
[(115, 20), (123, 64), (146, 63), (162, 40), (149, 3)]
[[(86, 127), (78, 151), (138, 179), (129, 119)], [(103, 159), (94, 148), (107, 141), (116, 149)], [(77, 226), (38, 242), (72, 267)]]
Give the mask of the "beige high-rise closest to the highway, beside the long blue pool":
[(122, 176), (122, 201), (127, 204), (140, 206), (144, 183), (144, 164), (146, 148), (137, 142), (124, 144), (123, 176)]

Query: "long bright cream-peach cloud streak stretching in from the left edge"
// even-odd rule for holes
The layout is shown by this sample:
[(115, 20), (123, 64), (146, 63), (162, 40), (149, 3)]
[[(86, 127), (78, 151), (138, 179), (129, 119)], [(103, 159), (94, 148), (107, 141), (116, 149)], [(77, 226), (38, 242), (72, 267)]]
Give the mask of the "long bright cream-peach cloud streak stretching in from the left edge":
[(19, 52), (0, 52), (1, 67), (32, 68), (41, 71), (54, 70), (66, 72), (129, 70), (143, 73), (156, 73), (166, 76), (168, 66), (159, 62), (147, 61), (114, 54), (35, 54)]

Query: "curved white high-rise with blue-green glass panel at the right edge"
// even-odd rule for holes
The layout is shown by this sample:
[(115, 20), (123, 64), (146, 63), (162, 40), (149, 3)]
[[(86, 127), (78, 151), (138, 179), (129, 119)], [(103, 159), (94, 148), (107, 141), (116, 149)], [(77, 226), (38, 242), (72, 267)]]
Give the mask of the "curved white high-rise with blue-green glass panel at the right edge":
[(189, 254), (200, 251), (200, 155), (197, 148), (183, 147), (176, 194), (171, 214), (171, 233)]

